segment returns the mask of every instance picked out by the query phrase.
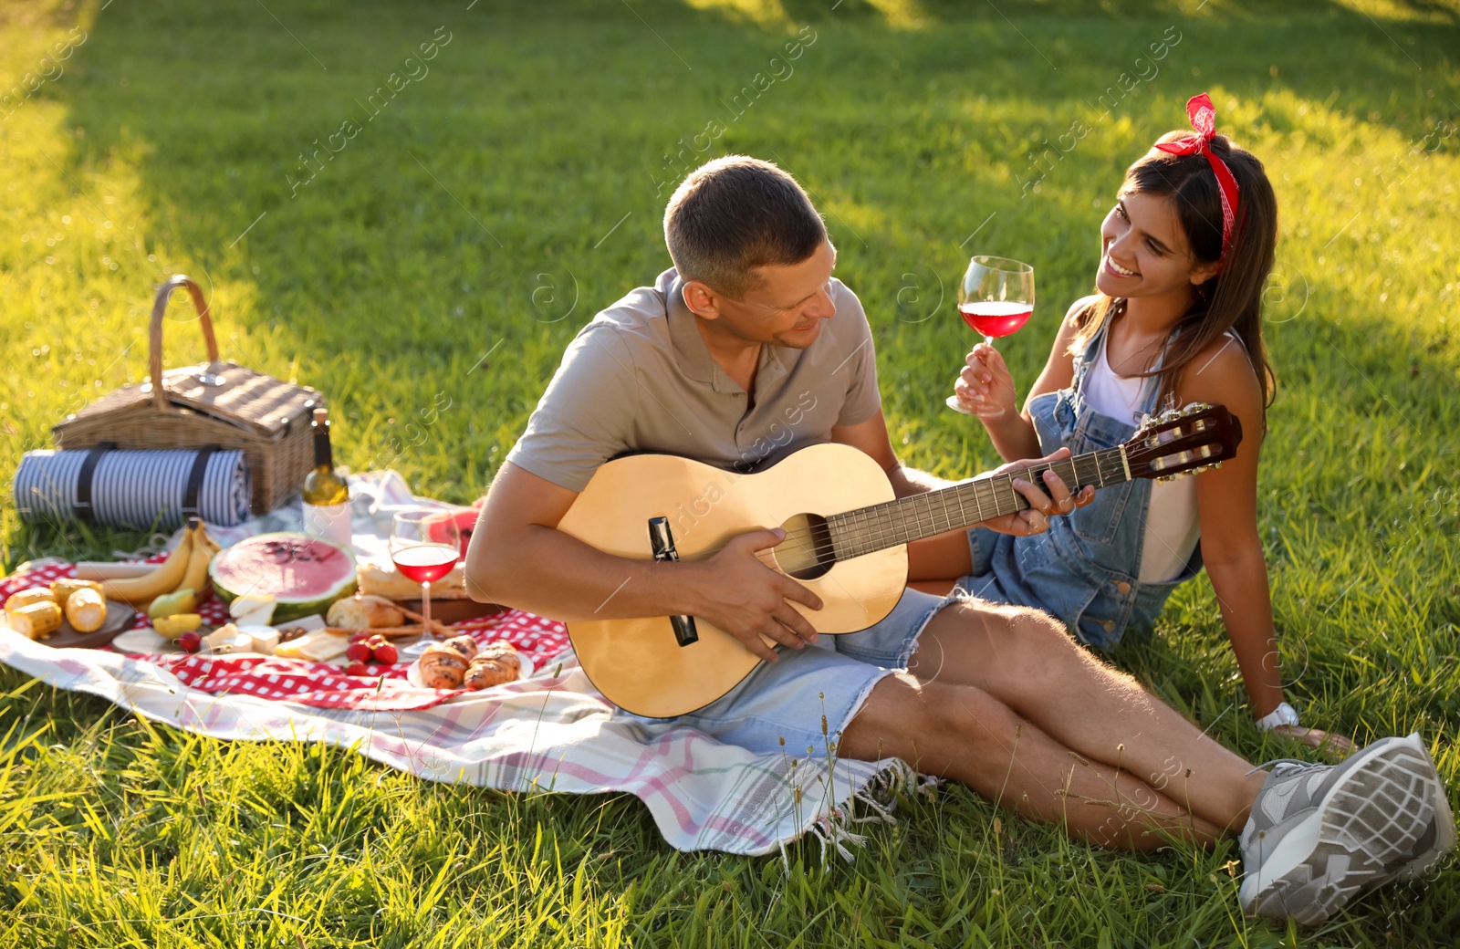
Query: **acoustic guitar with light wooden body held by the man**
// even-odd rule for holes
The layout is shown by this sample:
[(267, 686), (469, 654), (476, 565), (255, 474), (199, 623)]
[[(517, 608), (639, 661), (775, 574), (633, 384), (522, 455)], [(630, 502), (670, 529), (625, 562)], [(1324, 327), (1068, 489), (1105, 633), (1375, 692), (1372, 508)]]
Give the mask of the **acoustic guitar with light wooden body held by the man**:
[[(558, 529), (606, 553), (664, 561), (705, 559), (737, 534), (781, 527), (785, 539), (761, 559), (816, 593), (821, 610), (791, 606), (819, 634), (837, 635), (892, 612), (907, 585), (908, 543), (1029, 507), (1013, 489), (1016, 477), (1041, 483), (1048, 469), (1072, 492), (1169, 479), (1234, 457), (1241, 438), (1225, 407), (1193, 403), (1148, 419), (1114, 448), (907, 498), (894, 496), (867, 454), (834, 442), (753, 474), (666, 454), (625, 456), (594, 473)], [(610, 702), (653, 718), (708, 705), (761, 661), (730, 634), (689, 616), (569, 622), (568, 635), (588, 680)]]

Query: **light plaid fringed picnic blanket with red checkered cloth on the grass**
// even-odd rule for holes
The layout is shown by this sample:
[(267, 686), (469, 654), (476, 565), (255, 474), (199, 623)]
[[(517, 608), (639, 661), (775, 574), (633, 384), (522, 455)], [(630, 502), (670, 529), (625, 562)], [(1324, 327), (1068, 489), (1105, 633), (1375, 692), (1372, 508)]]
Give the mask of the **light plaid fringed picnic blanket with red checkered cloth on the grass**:
[[(394, 473), (350, 477), (359, 552), (410, 496)], [(220, 542), (298, 530), (289, 510), (212, 531)], [(293, 508), (298, 517), (298, 508)], [(364, 536), (362, 536), (364, 530)], [(48, 561), (0, 581), (0, 599), (70, 565)], [(626, 791), (679, 850), (775, 853), (812, 832), (851, 857), (854, 825), (891, 821), (886, 791), (915, 790), (896, 759), (791, 759), (721, 745), (694, 729), (647, 739), (594, 689), (562, 623), (508, 612), (470, 623), (533, 658), (531, 677), (482, 692), (419, 689), (404, 666), (355, 679), (337, 664), (260, 656), (126, 656), (57, 650), (0, 629), (0, 663), (58, 689), (99, 695), (153, 721), (229, 740), (327, 742), (429, 781), (504, 791)]]

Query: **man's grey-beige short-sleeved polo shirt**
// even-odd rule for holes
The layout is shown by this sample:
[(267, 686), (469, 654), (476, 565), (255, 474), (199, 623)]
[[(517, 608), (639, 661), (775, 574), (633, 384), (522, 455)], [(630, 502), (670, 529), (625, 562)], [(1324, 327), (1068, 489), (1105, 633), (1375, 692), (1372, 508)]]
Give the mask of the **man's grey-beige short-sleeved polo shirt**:
[(837, 315), (806, 349), (765, 345), (755, 400), (710, 355), (673, 269), (593, 318), (507, 460), (569, 491), (620, 454), (677, 454), (749, 473), (831, 441), (882, 407), (872, 328), (832, 279)]

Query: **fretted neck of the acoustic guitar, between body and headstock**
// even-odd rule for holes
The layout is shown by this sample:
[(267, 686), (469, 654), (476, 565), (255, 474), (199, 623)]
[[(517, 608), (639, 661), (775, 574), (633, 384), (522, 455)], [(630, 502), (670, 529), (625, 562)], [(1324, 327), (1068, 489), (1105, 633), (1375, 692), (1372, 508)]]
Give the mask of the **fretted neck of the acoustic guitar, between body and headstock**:
[(826, 518), (832, 549), (838, 561), (875, 550), (911, 543), (958, 527), (968, 527), (1029, 507), (1015, 491), (1015, 479), (1042, 486), (1044, 472), (1054, 472), (1070, 492), (1086, 485), (1105, 488), (1132, 479), (1121, 447), (1091, 451), (1051, 464), (1035, 464), (1018, 472), (986, 474), (974, 480), (845, 511)]

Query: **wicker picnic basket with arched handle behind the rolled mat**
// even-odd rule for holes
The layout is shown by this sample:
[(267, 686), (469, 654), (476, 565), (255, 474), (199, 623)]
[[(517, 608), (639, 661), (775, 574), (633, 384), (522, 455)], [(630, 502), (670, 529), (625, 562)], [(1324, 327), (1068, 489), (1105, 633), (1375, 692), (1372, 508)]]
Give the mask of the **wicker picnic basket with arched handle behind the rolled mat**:
[[(162, 371), (162, 317), (168, 298), (187, 288), (203, 327), (207, 362)], [(51, 429), (60, 448), (241, 448), (253, 477), (253, 511), (270, 511), (295, 493), (314, 467), (311, 410), (324, 397), (305, 385), (232, 362), (219, 362), (203, 291), (178, 274), (152, 305), (150, 383), (123, 385)]]

